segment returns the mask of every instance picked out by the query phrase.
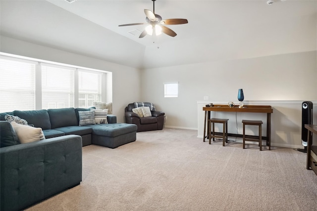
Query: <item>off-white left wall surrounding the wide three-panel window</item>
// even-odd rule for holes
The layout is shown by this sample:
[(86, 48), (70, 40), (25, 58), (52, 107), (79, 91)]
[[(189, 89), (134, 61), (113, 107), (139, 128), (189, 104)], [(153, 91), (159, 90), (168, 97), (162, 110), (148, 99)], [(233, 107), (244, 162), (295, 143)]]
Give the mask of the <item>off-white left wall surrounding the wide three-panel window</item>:
[[(122, 66), (104, 60), (57, 50), (51, 47), (24, 42), (4, 36), (1, 36), (0, 40), (1, 52), (111, 72), (113, 91), (112, 110), (113, 114), (117, 116), (118, 123), (123, 123), (125, 121), (125, 106), (127, 106), (128, 103), (141, 99), (140, 71), (136, 68)], [(109, 93), (107, 93), (107, 98), (111, 99)]]

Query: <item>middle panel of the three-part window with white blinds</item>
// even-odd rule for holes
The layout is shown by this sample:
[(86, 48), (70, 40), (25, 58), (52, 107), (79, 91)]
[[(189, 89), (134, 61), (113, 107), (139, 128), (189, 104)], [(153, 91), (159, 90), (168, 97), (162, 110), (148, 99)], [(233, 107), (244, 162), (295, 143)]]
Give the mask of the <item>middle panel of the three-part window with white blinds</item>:
[(74, 107), (75, 69), (42, 63), (42, 109)]

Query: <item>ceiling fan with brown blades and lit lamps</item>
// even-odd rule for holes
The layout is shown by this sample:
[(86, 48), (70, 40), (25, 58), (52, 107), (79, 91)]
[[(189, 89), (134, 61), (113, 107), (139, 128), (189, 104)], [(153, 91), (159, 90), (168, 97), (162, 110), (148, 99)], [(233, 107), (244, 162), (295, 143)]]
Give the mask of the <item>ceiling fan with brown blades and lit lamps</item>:
[(188, 23), (187, 19), (180, 19), (180, 18), (173, 18), (173, 19), (165, 19), (162, 20), (162, 17), (158, 14), (155, 14), (155, 1), (153, 1), (153, 12), (148, 9), (144, 9), (144, 13), (147, 16), (146, 21), (147, 23), (130, 23), (130, 24), (123, 24), (119, 26), (134, 26), (134, 25), (145, 25), (150, 24), (145, 28), (145, 30), (141, 33), (139, 38), (144, 38), (147, 34), (152, 35), (155, 33), (156, 35), (160, 35), (161, 32), (164, 34), (175, 37), (177, 34), (171, 30), (170, 28), (164, 25), (178, 25), (178, 24), (185, 24)]

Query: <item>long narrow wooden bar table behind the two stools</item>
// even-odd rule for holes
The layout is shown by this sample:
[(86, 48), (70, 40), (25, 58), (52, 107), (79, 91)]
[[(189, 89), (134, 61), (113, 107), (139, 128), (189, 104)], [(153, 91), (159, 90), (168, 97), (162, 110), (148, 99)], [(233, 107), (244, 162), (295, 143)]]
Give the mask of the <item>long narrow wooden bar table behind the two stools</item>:
[[(262, 105), (246, 105), (244, 108), (239, 108), (239, 106), (229, 107), (228, 105), (213, 105), (212, 107), (203, 107), (205, 111), (205, 122), (204, 122), (204, 141), (206, 138), (206, 123), (207, 123), (207, 134), (209, 134), (209, 122), (211, 117), (211, 111), (213, 112), (247, 112), (247, 113), (266, 113), (266, 137), (262, 139), (266, 140), (266, 146), (268, 150), (271, 150), (271, 113), (273, 109), (271, 106)], [(242, 137), (241, 134), (228, 134), (229, 136)]]

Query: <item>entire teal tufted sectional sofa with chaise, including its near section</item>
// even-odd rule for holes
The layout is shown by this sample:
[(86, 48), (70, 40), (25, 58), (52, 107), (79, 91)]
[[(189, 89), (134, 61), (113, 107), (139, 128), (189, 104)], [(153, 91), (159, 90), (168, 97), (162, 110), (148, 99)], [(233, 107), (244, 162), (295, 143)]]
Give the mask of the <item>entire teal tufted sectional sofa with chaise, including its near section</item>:
[[(137, 126), (116, 123), (79, 126), (79, 111), (63, 108), (0, 113), (0, 211), (18, 211), (82, 181), (82, 146), (116, 148), (136, 140)], [(20, 144), (5, 115), (41, 127), (45, 140)]]

